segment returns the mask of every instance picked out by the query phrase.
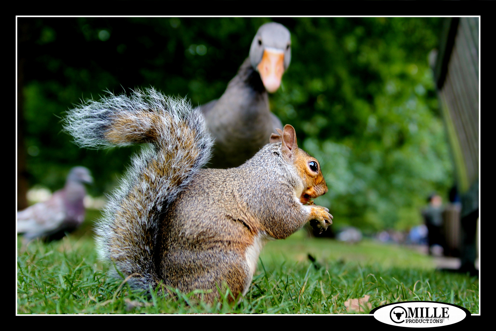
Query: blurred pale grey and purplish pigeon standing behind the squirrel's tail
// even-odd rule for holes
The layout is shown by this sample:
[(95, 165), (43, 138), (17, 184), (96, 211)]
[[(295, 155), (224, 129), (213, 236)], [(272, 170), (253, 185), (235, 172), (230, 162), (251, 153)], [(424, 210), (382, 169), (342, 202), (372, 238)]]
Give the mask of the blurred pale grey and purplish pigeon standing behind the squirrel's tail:
[(63, 189), (49, 200), (17, 212), (17, 233), (24, 233), (27, 241), (38, 237), (50, 241), (77, 229), (85, 214), (83, 183), (93, 183), (90, 171), (85, 167), (73, 167)]

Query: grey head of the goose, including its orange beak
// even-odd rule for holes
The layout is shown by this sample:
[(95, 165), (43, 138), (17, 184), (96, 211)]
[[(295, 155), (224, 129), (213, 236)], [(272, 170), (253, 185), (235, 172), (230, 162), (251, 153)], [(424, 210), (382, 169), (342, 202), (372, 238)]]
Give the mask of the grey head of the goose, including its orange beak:
[(249, 50), (251, 66), (260, 74), (265, 89), (274, 93), (291, 62), (291, 34), (282, 24), (265, 23), (256, 32)]

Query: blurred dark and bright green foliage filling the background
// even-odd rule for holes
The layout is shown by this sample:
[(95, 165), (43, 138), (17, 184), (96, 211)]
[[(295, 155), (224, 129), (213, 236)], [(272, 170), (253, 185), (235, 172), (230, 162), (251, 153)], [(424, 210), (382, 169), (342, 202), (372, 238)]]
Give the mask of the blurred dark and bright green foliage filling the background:
[[(453, 184), (429, 52), (440, 18), (276, 18), (292, 60), (271, 110), (321, 163), (334, 226), (406, 229)], [(154, 86), (193, 105), (222, 95), (269, 18), (18, 18), (30, 186), (56, 190), (74, 165), (108, 193), (139, 146), (80, 149), (64, 111), (105, 90)], [(19, 37), (20, 38), (20, 37)], [(20, 39), (19, 39), (20, 40)]]

